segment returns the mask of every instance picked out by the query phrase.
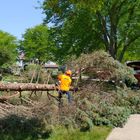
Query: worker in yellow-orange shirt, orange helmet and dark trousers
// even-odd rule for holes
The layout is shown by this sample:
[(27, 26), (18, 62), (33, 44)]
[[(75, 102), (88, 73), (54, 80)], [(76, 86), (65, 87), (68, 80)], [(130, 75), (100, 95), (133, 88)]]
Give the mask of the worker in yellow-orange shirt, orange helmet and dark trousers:
[(62, 94), (66, 94), (67, 97), (68, 97), (68, 102), (71, 103), (71, 95), (70, 95), (70, 86), (71, 86), (71, 75), (72, 75), (72, 72), (71, 70), (67, 70), (65, 72), (65, 74), (61, 74), (58, 76), (58, 80), (59, 80), (59, 86), (58, 86), (58, 89), (59, 89), (59, 101), (61, 103), (61, 98), (62, 98)]

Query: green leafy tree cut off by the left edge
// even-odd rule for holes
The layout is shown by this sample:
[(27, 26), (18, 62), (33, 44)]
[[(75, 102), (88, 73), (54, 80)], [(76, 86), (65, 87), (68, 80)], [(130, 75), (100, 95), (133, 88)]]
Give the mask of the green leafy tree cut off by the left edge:
[(0, 31), (0, 66), (10, 64), (16, 59), (16, 38)]

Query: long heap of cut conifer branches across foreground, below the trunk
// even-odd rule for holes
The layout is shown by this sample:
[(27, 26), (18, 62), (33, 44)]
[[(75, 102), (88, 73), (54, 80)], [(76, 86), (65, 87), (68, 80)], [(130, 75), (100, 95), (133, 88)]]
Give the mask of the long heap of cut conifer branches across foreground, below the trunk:
[(19, 126), (19, 129), (29, 125), (34, 127), (36, 120), (38, 126), (35, 127), (39, 130), (43, 128), (43, 132), (52, 132), (59, 125), (81, 130), (89, 130), (93, 125), (122, 126), (131, 113), (140, 113), (139, 93), (104, 84), (84, 80), (80, 84), (80, 91), (72, 95), (71, 104), (63, 96), (61, 108), (54, 98), (45, 101), (25, 98), (24, 105), (0, 103), (0, 130), (11, 127), (7, 120), (13, 122), (13, 117), (13, 125)]

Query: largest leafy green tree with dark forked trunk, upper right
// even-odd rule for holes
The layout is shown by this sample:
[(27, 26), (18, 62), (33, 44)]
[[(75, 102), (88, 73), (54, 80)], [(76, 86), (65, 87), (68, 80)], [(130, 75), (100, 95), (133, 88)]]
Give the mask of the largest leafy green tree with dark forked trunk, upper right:
[(140, 37), (140, 1), (105, 0), (103, 5), (98, 4), (101, 7), (93, 10), (93, 3), (86, 5), (82, 0), (45, 0), (44, 22), (54, 23), (56, 43), (62, 52), (80, 55), (104, 48), (113, 58), (122, 61)]

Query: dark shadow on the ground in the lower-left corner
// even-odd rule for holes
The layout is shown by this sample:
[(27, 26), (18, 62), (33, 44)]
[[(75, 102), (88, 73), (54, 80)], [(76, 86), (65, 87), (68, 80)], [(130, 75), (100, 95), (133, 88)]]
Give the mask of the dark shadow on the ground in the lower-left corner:
[(0, 138), (3, 140), (47, 139), (51, 132), (44, 131), (44, 128), (42, 121), (36, 118), (10, 115), (0, 119)]

